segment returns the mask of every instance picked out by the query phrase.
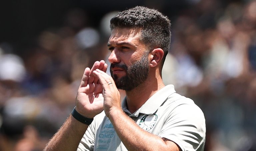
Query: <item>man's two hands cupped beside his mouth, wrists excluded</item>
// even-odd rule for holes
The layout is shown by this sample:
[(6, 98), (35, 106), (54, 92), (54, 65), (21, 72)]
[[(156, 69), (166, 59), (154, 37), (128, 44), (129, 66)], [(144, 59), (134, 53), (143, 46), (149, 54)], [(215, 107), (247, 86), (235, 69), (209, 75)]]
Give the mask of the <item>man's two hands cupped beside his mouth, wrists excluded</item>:
[(119, 90), (106, 70), (107, 64), (101, 60), (84, 71), (76, 96), (76, 110), (87, 118), (103, 110), (107, 117), (113, 110), (122, 110)]

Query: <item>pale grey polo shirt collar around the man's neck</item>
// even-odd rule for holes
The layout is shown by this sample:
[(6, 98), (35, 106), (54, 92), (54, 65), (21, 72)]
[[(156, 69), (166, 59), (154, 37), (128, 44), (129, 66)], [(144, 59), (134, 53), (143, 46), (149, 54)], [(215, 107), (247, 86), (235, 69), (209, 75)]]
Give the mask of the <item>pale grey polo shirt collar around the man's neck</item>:
[[(135, 113), (143, 113), (143, 114), (153, 114), (157, 111), (157, 109), (163, 104), (163, 102), (170, 96), (175, 93), (175, 89), (173, 85), (167, 85), (164, 88), (157, 91), (154, 95), (152, 95)], [(126, 97), (122, 101), (123, 111), (131, 114), (127, 110)]]

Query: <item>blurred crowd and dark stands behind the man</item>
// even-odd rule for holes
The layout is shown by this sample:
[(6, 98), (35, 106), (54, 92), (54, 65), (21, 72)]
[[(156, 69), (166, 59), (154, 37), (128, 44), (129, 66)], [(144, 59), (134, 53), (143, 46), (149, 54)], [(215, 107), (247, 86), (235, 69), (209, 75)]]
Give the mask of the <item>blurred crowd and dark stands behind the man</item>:
[(110, 18), (137, 5), (171, 19), (163, 79), (203, 110), (205, 151), (256, 150), (255, 0), (9, 0), (0, 2), (0, 151), (43, 150), (85, 67), (107, 61)]

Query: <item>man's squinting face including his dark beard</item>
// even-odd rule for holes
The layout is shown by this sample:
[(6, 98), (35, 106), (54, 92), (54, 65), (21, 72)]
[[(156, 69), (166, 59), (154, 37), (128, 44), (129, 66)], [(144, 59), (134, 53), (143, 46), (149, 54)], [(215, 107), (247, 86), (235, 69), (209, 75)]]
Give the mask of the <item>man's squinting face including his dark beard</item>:
[(118, 89), (133, 90), (148, 77), (148, 51), (139, 36), (138, 30), (125, 28), (114, 29), (109, 38), (110, 73)]

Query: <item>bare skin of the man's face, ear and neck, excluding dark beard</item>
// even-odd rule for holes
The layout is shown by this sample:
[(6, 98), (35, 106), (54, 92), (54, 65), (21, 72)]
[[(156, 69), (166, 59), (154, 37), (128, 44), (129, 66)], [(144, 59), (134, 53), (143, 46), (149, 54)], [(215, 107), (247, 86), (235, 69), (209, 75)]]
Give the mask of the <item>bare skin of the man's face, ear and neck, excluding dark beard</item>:
[[(144, 42), (140, 40), (140, 34), (140, 29), (113, 29), (108, 41), (108, 49), (111, 51), (108, 58), (109, 62), (131, 66), (135, 61), (141, 59), (143, 53), (147, 49)], [(131, 113), (139, 109), (157, 90), (164, 87), (160, 77), (161, 71), (159, 71), (158, 68), (158, 62), (161, 61), (162, 57), (162, 49), (156, 48), (151, 50), (148, 55), (150, 62), (149, 66), (151, 67), (149, 70), (149, 77), (145, 82), (134, 88), (132, 91), (126, 91), (127, 107)], [(117, 74), (119, 78), (126, 75), (126, 72), (119, 68), (114, 68), (112, 71), (113, 74)], [(152, 88), (155, 89), (152, 90)], [(145, 92), (145, 95), (140, 94), (141, 90)]]

